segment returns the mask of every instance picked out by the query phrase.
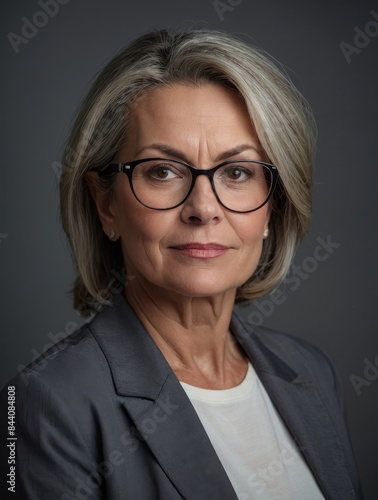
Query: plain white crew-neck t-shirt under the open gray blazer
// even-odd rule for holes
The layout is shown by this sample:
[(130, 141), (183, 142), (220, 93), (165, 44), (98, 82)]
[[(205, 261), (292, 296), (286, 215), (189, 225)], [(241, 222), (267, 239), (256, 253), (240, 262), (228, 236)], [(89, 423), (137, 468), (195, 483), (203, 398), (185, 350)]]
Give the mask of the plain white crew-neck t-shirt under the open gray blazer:
[(324, 500), (250, 363), (231, 389), (181, 385), (239, 500)]

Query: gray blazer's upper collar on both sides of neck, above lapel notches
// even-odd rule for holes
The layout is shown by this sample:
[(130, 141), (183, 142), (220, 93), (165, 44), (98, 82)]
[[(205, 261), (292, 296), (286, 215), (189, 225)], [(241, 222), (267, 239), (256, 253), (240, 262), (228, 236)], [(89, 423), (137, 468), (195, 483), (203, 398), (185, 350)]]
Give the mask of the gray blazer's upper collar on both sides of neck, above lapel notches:
[[(171, 367), (122, 295), (115, 295), (91, 323), (112, 371), (118, 394), (154, 400)], [(127, 333), (126, 333), (127, 328)], [(236, 314), (231, 331), (258, 372), (275, 375), (288, 382), (305, 383), (288, 362), (278, 357), (247, 328)], [(146, 369), (148, 367), (148, 369)]]

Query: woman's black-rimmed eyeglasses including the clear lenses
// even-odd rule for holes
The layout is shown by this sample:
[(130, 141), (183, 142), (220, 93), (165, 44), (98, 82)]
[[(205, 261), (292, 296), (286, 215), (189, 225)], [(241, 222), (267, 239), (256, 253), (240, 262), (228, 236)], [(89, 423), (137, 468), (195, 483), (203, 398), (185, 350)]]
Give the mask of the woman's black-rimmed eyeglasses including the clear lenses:
[(146, 158), (92, 170), (104, 178), (123, 172), (135, 198), (153, 210), (170, 210), (184, 203), (196, 179), (204, 175), (223, 207), (232, 212), (253, 212), (267, 203), (278, 179), (277, 167), (254, 160), (226, 161), (203, 170), (182, 161)]

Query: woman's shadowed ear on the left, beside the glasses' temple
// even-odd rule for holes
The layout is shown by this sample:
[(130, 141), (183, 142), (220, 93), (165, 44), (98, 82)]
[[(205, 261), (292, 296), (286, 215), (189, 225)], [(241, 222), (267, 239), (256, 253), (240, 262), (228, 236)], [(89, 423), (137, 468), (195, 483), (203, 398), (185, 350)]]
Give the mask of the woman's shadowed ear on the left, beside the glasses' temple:
[(92, 199), (96, 205), (97, 213), (100, 218), (104, 233), (113, 241), (119, 237), (118, 225), (116, 222), (114, 204), (109, 195), (100, 187), (98, 175), (96, 172), (87, 172), (85, 174)]

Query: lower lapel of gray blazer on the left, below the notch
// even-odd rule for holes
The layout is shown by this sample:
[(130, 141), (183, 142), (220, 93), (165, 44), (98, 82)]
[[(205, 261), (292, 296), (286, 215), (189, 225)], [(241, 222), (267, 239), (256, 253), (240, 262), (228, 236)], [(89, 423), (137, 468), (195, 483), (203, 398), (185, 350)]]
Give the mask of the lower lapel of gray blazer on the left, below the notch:
[(142, 414), (138, 400), (131, 405), (125, 401), (125, 407), (184, 498), (237, 499), (193, 406), (173, 374)]

